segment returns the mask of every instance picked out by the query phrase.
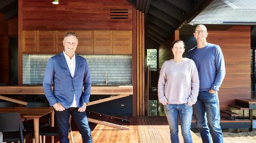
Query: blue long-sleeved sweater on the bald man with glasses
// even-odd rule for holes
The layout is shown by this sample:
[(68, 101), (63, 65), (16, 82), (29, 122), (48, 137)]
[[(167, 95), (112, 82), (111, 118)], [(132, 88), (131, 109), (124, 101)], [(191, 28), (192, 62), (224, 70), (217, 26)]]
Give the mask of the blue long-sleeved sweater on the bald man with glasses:
[(200, 81), (199, 91), (219, 91), (226, 74), (220, 46), (211, 43), (200, 49), (196, 46), (189, 50), (188, 58), (196, 63)]

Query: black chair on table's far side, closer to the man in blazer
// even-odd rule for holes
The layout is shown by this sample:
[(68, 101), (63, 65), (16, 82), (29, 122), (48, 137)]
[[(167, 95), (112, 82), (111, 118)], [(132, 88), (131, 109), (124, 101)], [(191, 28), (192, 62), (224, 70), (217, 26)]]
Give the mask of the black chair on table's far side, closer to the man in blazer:
[[(48, 102), (28, 102), (26, 107), (27, 108), (31, 108), (31, 107), (50, 107), (50, 105), (49, 105)], [(42, 121), (44, 118), (47, 118), (47, 121), (48, 121), (47, 123)], [(23, 122), (23, 125), (24, 125), (24, 130), (34, 130), (34, 123), (33, 123), (32, 120), (27, 121), (27, 119), (25, 119), (25, 121)], [(50, 126), (50, 115), (49, 114), (40, 118), (39, 128), (41, 128), (43, 126)]]

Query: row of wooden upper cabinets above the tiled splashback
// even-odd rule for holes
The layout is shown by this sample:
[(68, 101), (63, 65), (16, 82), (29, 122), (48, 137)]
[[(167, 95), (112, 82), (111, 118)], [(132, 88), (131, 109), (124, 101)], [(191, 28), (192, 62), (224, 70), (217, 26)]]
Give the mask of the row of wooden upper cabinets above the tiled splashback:
[(78, 36), (77, 54), (132, 54), (132, 31), (22, 31), (22, 52), (59, 54), (67, 32)]

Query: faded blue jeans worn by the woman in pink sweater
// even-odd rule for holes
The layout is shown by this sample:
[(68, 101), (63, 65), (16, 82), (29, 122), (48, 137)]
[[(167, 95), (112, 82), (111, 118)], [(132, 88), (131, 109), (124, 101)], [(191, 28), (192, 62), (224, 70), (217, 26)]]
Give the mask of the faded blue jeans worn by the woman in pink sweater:
[(179, 128), (178, 128), (178, 116), (181, 123), (181, 134), (184, 139), (184, 143), (192, 143), (192, 137), (190, 133), (191, 120), (192, 120), (192, 106), (188, 104), (167, 104), (164, 105), (164, 112), (166, 114), (171, 133), (171, 142), (179, 143)]

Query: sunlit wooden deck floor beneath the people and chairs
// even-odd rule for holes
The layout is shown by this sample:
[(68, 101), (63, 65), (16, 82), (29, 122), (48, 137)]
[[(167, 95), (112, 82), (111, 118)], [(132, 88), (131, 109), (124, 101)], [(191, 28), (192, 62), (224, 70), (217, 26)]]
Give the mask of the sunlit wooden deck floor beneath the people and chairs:
[[(93, 143), (170, 143), (170, 130), (165, 116), (125, 116), (124, 119), (131, 121), (130, 130), (119, 130), (104, 125), (90, 123)], [(55, 124), (56, 125), (56, 124)], [(76, 125), (71, 122), (75, 143), (82, 143)], [(202, 143), (201, 139), (191, 132), (193, 143)], [(70, 138), (69, 138), (70, 139)], [(181, 129), (179, 129), (180, 143), (183, 143)], [(58, 137), (54, 137), (54, 143), (59, 143)], [(26, 143), (31, 143), (32, 139), (26, 139)], [(46, 138), (46, 143), (50, 143), (50, 138)]]

